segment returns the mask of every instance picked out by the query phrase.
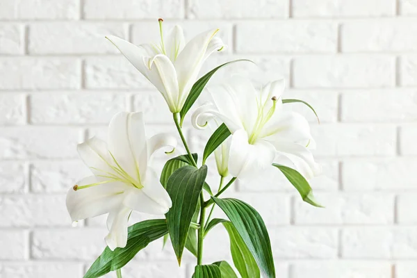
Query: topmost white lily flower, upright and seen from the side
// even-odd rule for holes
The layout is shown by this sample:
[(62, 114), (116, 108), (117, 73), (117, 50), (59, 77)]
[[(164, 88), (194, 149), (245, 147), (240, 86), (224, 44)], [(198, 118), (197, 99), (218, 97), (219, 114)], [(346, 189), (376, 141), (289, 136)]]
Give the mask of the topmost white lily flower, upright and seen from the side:
[(162, 19), (159, 19), (161, 44), (136, 46), (109, 35), (117, 49), (161, 92), (170, 111), (177, 113), (190, 93), (202, 64), (214, 51), (224, 49), (220, 38), (215, 38), (219, 29), (201, 33), (185, 44), (183, 30), (175, 26), (163, 37)]

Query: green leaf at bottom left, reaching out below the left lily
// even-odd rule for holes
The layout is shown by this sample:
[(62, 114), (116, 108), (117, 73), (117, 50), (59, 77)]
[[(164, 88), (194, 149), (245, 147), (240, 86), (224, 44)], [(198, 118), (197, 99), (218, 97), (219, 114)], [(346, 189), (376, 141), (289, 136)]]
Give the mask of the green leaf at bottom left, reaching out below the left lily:
[(106, 273), (122, 268), (150, 242), (167, 234), (167, 223), (164, 219), (145, 220), (133, 224), (128, 229), (127, 243), (124, 248), (116, 248), (111, 251), (106, 247), (92, 263), (90, 269), (85, 273), (84, 278), (95, 278), (106, 275)]

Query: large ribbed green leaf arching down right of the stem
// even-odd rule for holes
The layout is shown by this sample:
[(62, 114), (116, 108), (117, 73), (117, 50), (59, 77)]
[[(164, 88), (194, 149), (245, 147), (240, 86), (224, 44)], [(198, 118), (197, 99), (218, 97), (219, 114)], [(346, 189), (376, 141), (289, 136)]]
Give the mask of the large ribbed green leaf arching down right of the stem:
[(270, 238), (261, 215), (252, 206), (238, 199), (211, 198), (234, 224), (236, 231), (254, 256), (263, 276), (275, 278)]

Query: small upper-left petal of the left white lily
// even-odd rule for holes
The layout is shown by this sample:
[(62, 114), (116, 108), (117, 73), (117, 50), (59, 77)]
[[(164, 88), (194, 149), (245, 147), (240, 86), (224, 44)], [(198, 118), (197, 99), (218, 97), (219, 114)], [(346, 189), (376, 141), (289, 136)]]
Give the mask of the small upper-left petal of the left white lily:
[(76, 147), (79, 156), (91, 172), (96, 175), (104, 175), (111, 170), (111, 158), (108, 154), (107, 144), (99, 138), (93, 137)]

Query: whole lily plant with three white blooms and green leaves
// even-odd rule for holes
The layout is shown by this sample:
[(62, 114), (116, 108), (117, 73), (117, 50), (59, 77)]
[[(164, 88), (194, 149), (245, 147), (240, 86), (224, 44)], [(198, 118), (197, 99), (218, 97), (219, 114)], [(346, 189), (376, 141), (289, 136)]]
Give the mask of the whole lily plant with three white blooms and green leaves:
[[(171, 241), (179, 264), (185, 248), (195, 255), (195, 278), (275, 277), (270, 238), (261, 215), (249, 204), (224, 198), (222, 193), (236, 179), (256, 182), (274, 167), (305, 202), (320, 206), (308, 183), (320, 172), (309, 150), (314, 147), (309, 124), (302, 115), (283, 108), (294, 102), (311, 106), (282, 98), (282, 79), (255, 88), (247, 78), (232, 76), (204, 90), (220, 68), (250, 60), (224, 63), (197, 80), (206, 58), (226, 47), (217, 36), (219, 30), (206, 31), (185, 43), (181, 27), (175, 26), (166, 36), (162, 19), (159, 27), (158, 43), (136, 46), (114, 36), (106, 38), (161, 92), (185, 152), (170, 154), (174, 157), (167, 159), (158, 175), (150, 163), (153, 154), (163, 147), (173, 153), (182, 147), (176, 149), (176, 137), (170, 134), (147, 138), (141, 112), (115, 115), (107, 142), (90, 138), (78, 146), (92, 175), (68, 191), (71, 218), (77, 221), (108, 213), (107, 247), (84, 277), (101, 277), (111, 271), (122, 277), (123, 266), (158, 238)], [(204, 152), (197, 155), (188, 147), (182, 126), (203, 90), (208, 101), (195, 108), (190, 120), (196, 129), (210, 126), (213, 133)], [(206, 159), (211, 155), (220, 177), (217, 191), (206, 182)], [(215, 206), (227, 219), (211, 218)], [(132, 211), (165, 218), (128, 227)], [(234, 268), (227, 261), (202, 263), (204, 238), (218, 224), (229, 234)]]

